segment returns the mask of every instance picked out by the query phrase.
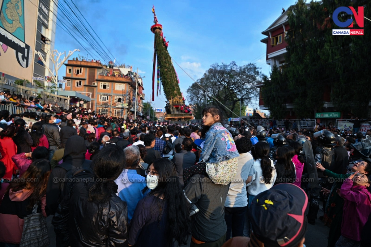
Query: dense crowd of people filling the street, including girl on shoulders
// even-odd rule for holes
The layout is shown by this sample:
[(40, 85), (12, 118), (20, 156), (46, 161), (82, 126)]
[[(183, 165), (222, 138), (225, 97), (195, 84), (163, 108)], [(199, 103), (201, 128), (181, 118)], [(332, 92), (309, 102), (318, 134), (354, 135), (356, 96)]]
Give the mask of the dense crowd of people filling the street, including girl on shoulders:
[(201, 125), (54, 107), (0, 112), (1, 247), (302, 247), (319, 219), (328, 246), (371, 244), (360, 132), (234, 128), (216, 106)]

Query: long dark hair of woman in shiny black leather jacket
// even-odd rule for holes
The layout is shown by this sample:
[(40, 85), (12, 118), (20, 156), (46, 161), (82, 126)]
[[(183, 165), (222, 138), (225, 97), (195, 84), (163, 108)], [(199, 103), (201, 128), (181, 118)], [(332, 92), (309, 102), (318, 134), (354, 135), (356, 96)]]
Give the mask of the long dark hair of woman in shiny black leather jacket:
[(108, 145), (93, 158), (95, 183), (89, 189), (89, 201), (104, 203), (117, 193), (116, 178), (126, 167), (125, 154), (117, 145)]

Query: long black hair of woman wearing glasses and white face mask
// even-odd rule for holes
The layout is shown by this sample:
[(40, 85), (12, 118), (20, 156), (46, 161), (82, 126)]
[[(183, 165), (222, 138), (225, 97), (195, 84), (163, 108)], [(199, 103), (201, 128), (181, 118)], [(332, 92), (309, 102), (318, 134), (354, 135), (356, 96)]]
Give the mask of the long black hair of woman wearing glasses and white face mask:
[[(165, 231), (168, 241), (167, 246), (171, 246), (173, 239), (177, 240), (179, 244), (187, 244), (191, 224), (189, 217), (190, 203), (184, 197), (175, 165), (167, 158), (159, 158), (152, 164), (158, 173), (158, 185), (151, 190), (150, 195), (159, 197), (163, 195), (164, 203), (167, 204), (168, 208)], [(159, 206), (161, 210), (162, 207)]]

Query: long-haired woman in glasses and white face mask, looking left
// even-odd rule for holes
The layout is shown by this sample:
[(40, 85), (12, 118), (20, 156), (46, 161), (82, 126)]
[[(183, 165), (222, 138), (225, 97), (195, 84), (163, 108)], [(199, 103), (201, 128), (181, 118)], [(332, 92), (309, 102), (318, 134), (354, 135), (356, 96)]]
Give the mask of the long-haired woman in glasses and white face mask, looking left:
[(135, 208), (128, 246), (174, 246), (173, 239), (179, 244), (187, 244), (190, 204), (184, 197), (173, 162), (159, 158), (145, 170), (145, 174), (151, 192)]

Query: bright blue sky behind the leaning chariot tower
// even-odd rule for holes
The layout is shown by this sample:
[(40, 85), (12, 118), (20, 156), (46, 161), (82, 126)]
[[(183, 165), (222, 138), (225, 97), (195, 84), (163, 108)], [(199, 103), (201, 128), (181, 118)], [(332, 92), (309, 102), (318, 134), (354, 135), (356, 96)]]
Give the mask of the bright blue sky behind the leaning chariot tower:
[[(74, 2), (116, 60), (120, 64), (132, 65), (134, 70), (138, 67), (139, 74), (145, 76), (146, 101), (152, 94), (152, 4), (169, 41), (170, 56), (195, 80), (202, 77), (211, 64), (231, 61), (238, 65), (256, 63), (264, 74), (269, 74), (270, 66), (265, 61), (266, 46), (260, 42), (265, 37), (262, 31), (280, 16), (282, 7), (287, 9), (295, 4), (295, 0)], [(68, 51), (76, 48), (80, 52), (73, 56), (87, 55), (86, 50), (57, 26), (55, 49)], [(88, 59), (92, 58), (89, 56)], [(186, 90), (193, 81), (176, 64), (174, 67), (181, 91), (186, 96)], [(60, 75), (65, 75), (65, 66)], [(155, 97), (155, 107), (164, 106), (165, 97), (161, 93)], [(258, 107), (257, 103), (252, 107)]]

